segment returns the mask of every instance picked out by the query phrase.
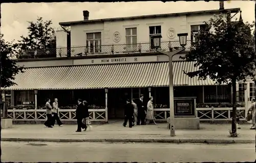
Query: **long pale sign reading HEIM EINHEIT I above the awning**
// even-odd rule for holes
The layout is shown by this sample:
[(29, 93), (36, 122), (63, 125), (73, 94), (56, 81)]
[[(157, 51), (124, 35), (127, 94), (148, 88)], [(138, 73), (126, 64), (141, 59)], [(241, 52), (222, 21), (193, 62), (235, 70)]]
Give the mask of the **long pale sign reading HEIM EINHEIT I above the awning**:
[(101, 65), (118, 63), (157, 62), (157, 56), (115, 57), (74, 60), (73, 65)]

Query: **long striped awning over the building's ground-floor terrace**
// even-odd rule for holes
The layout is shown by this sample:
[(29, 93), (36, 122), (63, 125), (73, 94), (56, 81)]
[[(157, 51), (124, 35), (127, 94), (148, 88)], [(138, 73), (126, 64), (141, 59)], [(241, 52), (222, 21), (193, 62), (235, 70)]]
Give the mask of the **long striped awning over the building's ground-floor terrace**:
[[(175, 86), (215, 85), (209, 78), (190, 78), (195, 62), (173, 63)], [(101, 89), (169, 86), (168, 62), (27, 68), (6, 90)]]

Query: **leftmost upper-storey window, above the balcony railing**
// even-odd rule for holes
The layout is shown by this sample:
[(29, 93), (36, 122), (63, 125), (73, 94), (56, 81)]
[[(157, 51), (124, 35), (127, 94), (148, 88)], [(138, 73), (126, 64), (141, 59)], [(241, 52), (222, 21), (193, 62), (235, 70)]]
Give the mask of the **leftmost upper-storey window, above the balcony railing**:
[(101, 52), (101, 33), (87, 33), (88, 52)]

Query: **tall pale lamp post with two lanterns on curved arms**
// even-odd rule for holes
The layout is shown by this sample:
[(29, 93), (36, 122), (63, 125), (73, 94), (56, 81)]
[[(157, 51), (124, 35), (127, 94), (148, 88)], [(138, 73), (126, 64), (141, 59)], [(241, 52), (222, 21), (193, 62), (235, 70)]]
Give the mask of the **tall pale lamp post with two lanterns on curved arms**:
[(182, 48), (174, 50), (174, 51), (162, 51), (158, 49), (158, 47), (161, 44), (161, 38), (162, 36), (154, 36), (153, 42), (154, 46), (156, 48), (156, 51), (159, 53), (162, 53), (163, 55), (168, 56), (169, 58), (169, 105), (170, 105), (170, 136), (175, 136), (175, 128), (174, 128), (174, 83), (173, 83), (173, 56), (177, 53), (185, 50), (185, 45), (187, 42), (187, 33), (178, 34), (180, 45)]

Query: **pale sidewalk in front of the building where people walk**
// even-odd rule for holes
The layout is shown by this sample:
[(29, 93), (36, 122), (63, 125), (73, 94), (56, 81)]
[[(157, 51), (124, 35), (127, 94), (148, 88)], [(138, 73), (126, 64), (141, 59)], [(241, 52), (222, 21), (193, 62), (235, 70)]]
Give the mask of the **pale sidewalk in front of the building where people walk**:
[(39, 142), (157, 142), (157, 143), (255, 143), (255, 130), (241, 125), (237, 138), (229, 137), (231, 124), (200, 124), (200, 130), (176, 130), (170, 137), (165, 123), (123, 127), (122, 122), (93, 125), (92, 130), (75, 132), (76, 125), (47, 128), (42, 124), (13, 125), (2, 129), (2, 141)]

